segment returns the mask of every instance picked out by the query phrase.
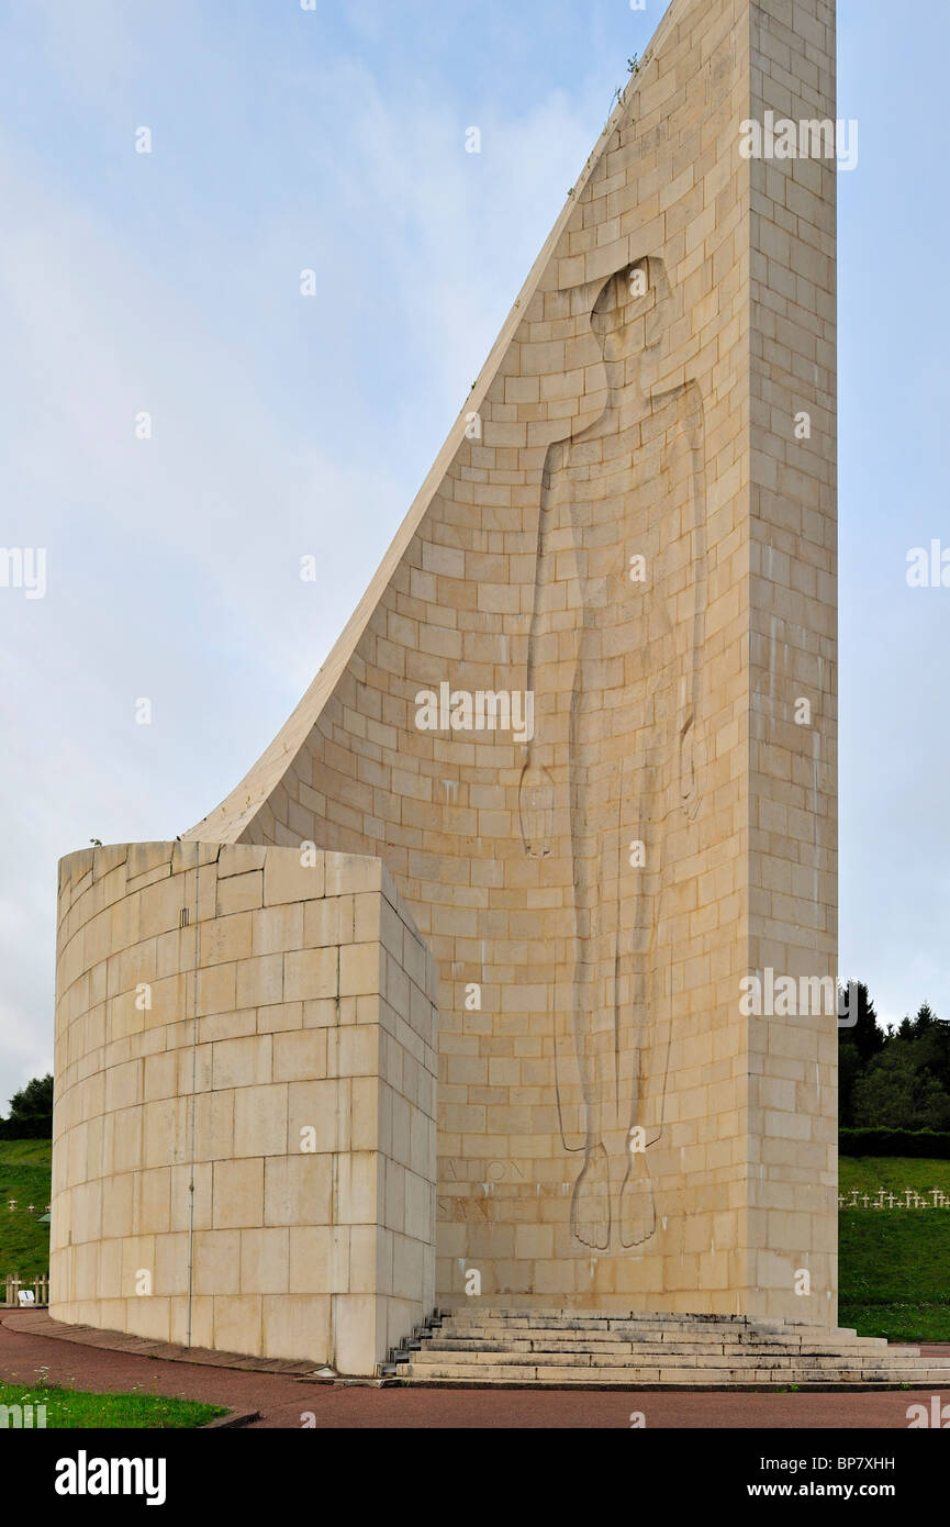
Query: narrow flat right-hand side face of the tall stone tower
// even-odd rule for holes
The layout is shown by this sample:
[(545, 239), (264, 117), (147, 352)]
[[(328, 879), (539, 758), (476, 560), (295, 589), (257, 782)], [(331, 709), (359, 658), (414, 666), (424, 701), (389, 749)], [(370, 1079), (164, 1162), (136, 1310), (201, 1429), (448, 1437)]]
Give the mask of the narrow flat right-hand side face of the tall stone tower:
[[(832, 0), (751, 8), (751, 119), (834, 121), (834, 29)], [(748, 967), (802, 991), (837, 976), (837, 166), (750, 169)], [(784, 1312), (808, 1272), (791, 1312), (834, 1324), (837, 1026), (802, 1006), (750, 1019), (748, 1280)]]

